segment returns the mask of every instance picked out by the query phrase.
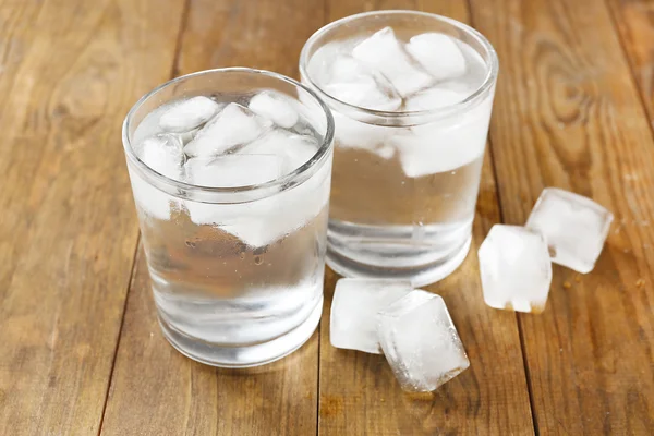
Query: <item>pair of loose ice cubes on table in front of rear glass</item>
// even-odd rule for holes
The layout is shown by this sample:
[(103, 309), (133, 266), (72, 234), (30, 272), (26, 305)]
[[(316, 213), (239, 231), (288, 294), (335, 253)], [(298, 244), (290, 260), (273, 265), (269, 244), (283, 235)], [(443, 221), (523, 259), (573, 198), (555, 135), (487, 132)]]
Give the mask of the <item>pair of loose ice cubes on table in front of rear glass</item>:
[(384, 352), (407, 391), (433, 391), (470, 365), (443, 299), (410, 281), (340, 279), (329, 335), (336, 348)]

